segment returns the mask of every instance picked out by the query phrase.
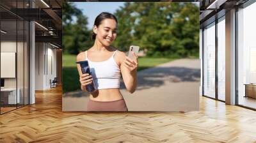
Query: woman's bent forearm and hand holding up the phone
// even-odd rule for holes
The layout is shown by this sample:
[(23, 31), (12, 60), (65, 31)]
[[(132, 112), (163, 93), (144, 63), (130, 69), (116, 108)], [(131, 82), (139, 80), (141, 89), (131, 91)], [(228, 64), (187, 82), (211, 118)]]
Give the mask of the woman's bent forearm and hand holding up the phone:
[(120, 54), (120, 70), (124, 80), (125, 87), (129, 93), (134, 93), (137, 87), (137, 68), (138, 57), (134, 54), (134, 59), (125, 56), (124, 52)]

